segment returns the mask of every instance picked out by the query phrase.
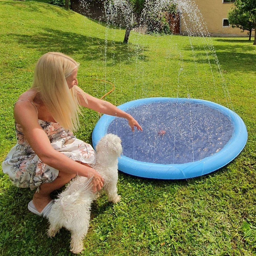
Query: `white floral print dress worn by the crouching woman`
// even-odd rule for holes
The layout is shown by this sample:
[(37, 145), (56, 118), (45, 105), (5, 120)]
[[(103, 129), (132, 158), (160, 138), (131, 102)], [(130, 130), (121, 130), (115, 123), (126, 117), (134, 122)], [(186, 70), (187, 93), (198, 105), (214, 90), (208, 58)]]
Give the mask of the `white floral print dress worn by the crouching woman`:
[[(92, 146), (77, 139), (72, 132), (65, 130), (59, 123), (38, 120), (47, 134), (52, 147), (73, 159), (95, 164), (95, 151)], [(17, 187), (31, 190), (38, 188), (42, 183), (53, 182), (59, 171), (46, 164), (35, 154), (24, 137), (21, 125), (15, 123), (17, 144), (10, 150), (2, 163), (3, 172)]]

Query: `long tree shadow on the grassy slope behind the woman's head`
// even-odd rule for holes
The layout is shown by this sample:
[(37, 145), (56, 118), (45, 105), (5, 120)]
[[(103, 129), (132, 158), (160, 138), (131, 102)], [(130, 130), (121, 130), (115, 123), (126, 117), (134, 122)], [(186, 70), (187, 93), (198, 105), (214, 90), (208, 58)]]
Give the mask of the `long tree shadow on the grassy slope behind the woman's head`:
[[(48, 51), (57, 51), (64, 54), (80, 54), (83, 60), (101, 60), (106, 66), (125, 62), (132, 64), (134, 59), (146, 61), (144, 49), (134, 45), (124, 45), (120, 41), (105, 41), (97, 37), (63, 32), (55, 29), (45, 29), (36, 35), (8, 34), (6, 44), (16, 41), (26, 48), (36, 49), (42, 54)], [(106, 63), (105, 63), (106, 61)]]

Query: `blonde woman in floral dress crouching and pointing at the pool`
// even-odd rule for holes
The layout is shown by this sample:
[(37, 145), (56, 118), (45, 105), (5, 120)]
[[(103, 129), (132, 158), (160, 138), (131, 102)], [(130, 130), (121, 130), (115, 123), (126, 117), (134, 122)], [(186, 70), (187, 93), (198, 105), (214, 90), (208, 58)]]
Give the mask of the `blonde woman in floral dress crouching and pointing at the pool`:
[(79, 127), (79, 105), (126, 118), (132, 130), (135, 126), (142, 131), (131, 115), (77, 86), (78, 66), (59, 52), (44, 54), (36, 63), (31, 89), (14, 106), (17, 144), (5, 158), (3, 172), (16, 186), (36, 189), (28, 209), (44, 218), (54, 202), (50, 193), (74, 176), (91, 178), (93, 191), (103, 186), (103, 178), (93, 169), (92, 146), (72, 133)]

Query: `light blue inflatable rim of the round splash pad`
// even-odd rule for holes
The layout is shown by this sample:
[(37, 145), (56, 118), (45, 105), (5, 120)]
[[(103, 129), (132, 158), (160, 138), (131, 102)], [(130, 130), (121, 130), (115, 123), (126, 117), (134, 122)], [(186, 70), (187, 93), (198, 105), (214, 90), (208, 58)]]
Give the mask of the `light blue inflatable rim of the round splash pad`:
[[(247, 129), (240, 118), (232, 110), (206, 100), (200, 99), (187, 99), (187, 98), (145, 98), (126, 102), (120, 106), (119, 109), (126, 111), (128, 108), (140, 106), (146, 103), (153, 102), (192, 102), (205, 104), (211, 108), (218, 109), (222, 114), (226, 115), (232, 125), (234, 131), (232, 137), (228, 143), (217, 153), (212, 156), (205, 157), (199, 161), (185, 163), (185, 164), (154, 164), (148, 162), (136, 161), (126, 156), (121, 156), (118, 161), (118, 169), (124, 173), (131, 174), (143, 178), (155, 178), (155, 179), (187, 179), (197, 176), (202, 176), (227, 165), (234, 158), (236, 158), (243, 150), (247, 142)], [(92, 143), (95, 148), (97, 142), (106, 134), (109, 124), (115, 116), (102, 115), (97, 124), (95, 125), (92, 133)]]

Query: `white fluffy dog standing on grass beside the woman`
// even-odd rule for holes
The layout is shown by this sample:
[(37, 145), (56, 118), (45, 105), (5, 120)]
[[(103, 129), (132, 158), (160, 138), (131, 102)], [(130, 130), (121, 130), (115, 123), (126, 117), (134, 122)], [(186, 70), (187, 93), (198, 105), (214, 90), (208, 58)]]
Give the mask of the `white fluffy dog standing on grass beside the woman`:
[[(121, 153), (121, 140), (114, 134), (105, 135), (96, 146), (94, 169), (103, 177), (102, 190), (107, 194), (108, 200), (113, 203), (120, 201), (116, 184), (118, 157)], [(72, 233), (71, 251), (81, 252), (83, 239), (89, 228), (91, 203), (98, 196), (99, 194), (92, 192), (92, 185), (88, 178), (82, 176), (74, 178), (52, 206), (48, 215), (50, 222), (48, 236), (54, 237), (61, 227), (65, 227)]]

